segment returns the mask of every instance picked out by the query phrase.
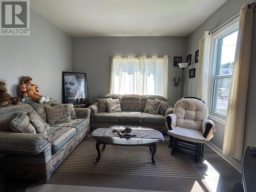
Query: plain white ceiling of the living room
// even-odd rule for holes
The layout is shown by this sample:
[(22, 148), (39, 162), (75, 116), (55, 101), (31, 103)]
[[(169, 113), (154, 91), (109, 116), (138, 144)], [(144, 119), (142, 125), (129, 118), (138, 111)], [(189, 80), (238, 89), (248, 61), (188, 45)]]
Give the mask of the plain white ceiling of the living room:
[(70, 36), (188, 36), (227, 0), (30, 0)]

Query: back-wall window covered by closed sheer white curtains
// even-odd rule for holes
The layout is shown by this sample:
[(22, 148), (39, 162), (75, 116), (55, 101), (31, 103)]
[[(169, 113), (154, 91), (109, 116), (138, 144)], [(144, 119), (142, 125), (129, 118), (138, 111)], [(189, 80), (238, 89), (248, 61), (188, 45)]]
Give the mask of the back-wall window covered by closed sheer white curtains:
[(112, 57), (110, 93), (167, 97), (168, 56)]

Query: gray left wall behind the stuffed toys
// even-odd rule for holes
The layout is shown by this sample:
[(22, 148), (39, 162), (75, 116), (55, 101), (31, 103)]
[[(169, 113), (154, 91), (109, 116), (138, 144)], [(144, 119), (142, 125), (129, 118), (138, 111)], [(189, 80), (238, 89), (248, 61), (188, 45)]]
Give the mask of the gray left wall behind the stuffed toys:
[(30, 10), (30, 36), (0, 36), (0, 78), (19, 94), (22, 76), (33, 77), (40, 93), (61, 101), (61, 72), (71, 71), (71, 37)]

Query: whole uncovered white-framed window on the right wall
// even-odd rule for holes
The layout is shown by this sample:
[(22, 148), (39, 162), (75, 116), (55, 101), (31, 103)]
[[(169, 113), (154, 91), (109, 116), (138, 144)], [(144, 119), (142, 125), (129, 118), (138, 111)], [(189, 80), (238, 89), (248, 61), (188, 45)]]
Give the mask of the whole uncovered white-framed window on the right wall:
[(210, 113), (225, 119), (238, 39), (238, 18), (212, 34)]

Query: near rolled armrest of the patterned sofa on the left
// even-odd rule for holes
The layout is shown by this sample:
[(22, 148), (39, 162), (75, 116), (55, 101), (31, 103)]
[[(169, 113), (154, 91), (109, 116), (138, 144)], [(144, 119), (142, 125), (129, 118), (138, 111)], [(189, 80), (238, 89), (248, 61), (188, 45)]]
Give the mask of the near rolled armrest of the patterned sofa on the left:
[(0, 153), (36, 155), (51, 147), (44, 134), (0, 132)]

